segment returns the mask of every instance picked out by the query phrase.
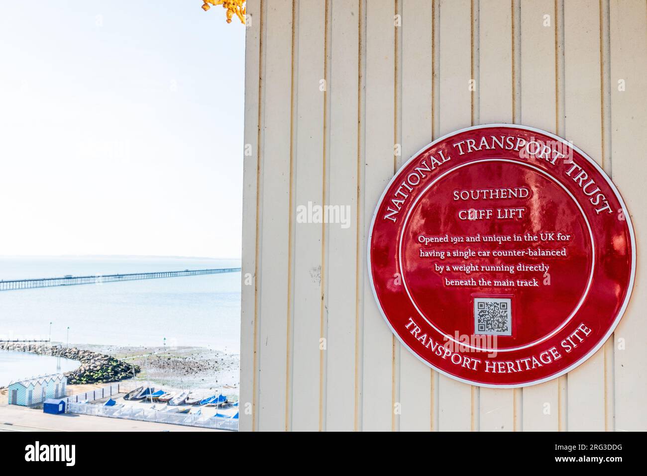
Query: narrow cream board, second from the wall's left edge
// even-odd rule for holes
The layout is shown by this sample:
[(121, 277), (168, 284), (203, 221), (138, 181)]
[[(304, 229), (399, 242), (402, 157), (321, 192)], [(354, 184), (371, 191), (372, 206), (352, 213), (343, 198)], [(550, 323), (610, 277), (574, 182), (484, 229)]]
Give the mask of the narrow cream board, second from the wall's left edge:
[(267, 2), (261, 250), (259, 430), (284, 429), (291, 266), (292, 1)]

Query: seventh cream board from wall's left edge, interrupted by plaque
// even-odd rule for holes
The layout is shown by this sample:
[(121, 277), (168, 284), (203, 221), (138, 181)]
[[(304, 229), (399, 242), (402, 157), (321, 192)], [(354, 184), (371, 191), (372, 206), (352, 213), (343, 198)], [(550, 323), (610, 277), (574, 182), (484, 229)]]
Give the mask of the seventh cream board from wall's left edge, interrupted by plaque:
[[(441, 0), (439, 9), (439, 135), (445, 135), (472, 125), (472, 3)], [(438, 429), (470, 431), (472, 387), (444, 375), (438, 385)]]

